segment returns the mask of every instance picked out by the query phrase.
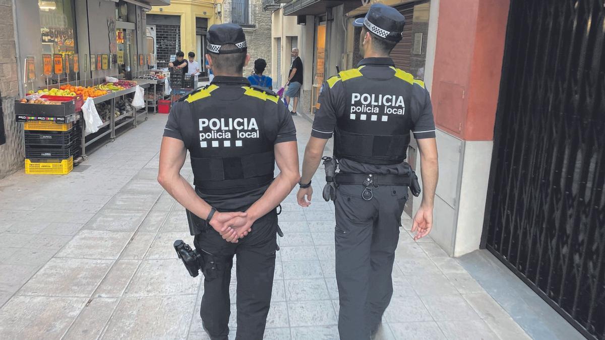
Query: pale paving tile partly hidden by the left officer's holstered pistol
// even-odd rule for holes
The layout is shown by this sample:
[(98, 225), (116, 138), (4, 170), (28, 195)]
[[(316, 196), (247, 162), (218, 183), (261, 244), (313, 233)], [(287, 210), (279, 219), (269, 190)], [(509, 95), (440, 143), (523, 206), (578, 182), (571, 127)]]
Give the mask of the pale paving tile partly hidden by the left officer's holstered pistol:
[(145, 260), (125, 296), (195, 294), (200, 276), (192, 278), (178, 260)]

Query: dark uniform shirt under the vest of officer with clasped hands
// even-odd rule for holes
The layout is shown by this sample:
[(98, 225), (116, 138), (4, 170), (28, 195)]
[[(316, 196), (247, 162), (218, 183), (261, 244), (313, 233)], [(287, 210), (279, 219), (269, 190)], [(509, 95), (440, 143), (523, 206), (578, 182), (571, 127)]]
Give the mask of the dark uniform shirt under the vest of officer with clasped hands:
[[(234, 110), (247, 111), (250, 107), (250, 101), (259, 100), (251, 96), (244, 96), (246, 90), (243, 87), (249, 87), (250, 83), (243, 77), (214, 77), (213, 85), (218, 88), (212, 91), (212, 96), (203, 100), (221, 100), (232, 102)], [(283, 102), (276, 103), (272, 106), (274, 109), (268, 112), (258, 113), (263, 114), (265, 129), (267, 136), (275, 136), (273, 144), (292, 142), (296, 140), (296, 127), (292, 120), (292, 115), (287, 110)], [(168, 123), (164, 129), (165, 137), (180, 139), (185, 143), (185, 147), (189, 149), (191, 142), (195, 140), (195, 136), (199, 133), (196, 126), (192, 123), (192, 110), (195, 110), (195, 102), (188, 103), (179, 101), (172, 106)], [(267, 186), (253, 189), (250, 191), (240, 192), (238, 194), (224, 195), (208, 195), (203, 194), (196, 188), (197, 194), (203, 198), (208, 204), (214, 206), (219, 211), (245, 211), (252, 203), (257, 201), (267, 190)]]

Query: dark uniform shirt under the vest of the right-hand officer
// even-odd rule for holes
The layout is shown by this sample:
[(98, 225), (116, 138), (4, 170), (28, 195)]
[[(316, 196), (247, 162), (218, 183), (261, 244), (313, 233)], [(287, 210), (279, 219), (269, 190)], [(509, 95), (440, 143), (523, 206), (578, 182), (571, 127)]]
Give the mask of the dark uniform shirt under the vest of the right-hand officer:
[[(391, 58), (365, 58), (359, 62), (364, 66), (360, 71), (368, 79), (390, 79), (394, 71)], [(433, 106), (431, 98), (424, 86), (414, 86), (411, 96), (411, 120), (414, 123), (412, 132), (416, 139), (434, 138), (435, 122), (433, 118)], [(311, 136), (329, 139), (336, 128), (336, 120), (345, 112), (345, 88), (342, 82), (336, 82), (332, 88), (325, 83), (321, 94), (319, 94), (319, 111), (313, 120)], [(404, 131), (406, 133), (408, 131)], [(407, 174), (408, 165), (372, 165), (359, 163), (353, 160), (339, 160), (339, 168), (343, 172), (362, 174)]]

